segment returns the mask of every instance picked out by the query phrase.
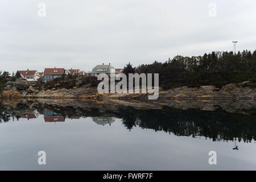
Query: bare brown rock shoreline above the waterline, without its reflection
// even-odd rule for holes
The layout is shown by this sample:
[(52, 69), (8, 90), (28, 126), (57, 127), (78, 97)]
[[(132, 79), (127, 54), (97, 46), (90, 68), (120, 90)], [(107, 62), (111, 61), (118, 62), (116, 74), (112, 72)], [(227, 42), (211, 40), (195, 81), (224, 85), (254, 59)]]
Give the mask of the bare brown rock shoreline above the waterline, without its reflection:
[[(89, 85), (75, 86), (72, 89), (52, 88), (40, 89), (36, 82), (19, 78), (15, 82), (7, 82), (0, 98), (73, 98), (80, 100), (141, 100), (148, 101), (147, 94), (99, 94), (97, 88)], [(56, 84), (57, 85), (57, 84)], [(200, 88), (159, 89), (159, 98), (154, 101), (166, 100), (252, 100), (255, 101), (256, 88), (246, 86), (246, 81), (238, 84), (228, 84), (222, 88), (201, 86)], [(153, 101), (153, 102), (154, 102)]]

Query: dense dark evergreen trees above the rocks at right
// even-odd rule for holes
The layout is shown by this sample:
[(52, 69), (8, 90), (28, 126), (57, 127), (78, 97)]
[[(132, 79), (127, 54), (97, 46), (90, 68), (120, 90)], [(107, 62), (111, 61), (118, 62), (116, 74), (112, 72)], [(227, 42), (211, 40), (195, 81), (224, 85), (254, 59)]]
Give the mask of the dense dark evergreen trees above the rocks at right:
[(154, 61), (133, 67), (130, 63), (123, 73), (159, 73), (159, 85), (164, 89), (177, 86), (199, 87), (203, 85), (221, 86), (250, 81), (256, 86), (256, 50), (205, 53), (203, 56), (175, 56), (164, 63)]

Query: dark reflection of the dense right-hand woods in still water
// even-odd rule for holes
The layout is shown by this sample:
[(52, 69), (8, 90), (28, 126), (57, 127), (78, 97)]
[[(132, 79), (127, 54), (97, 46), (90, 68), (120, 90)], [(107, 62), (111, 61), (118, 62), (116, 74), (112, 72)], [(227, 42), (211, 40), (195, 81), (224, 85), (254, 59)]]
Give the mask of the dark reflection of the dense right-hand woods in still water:
[(155, 131), (166, 131), (178, 136), (207, 137), (213, 140), (233, 140), (234, 137), (249, 142), (255, 139), (256, 118), (253, 115), (226, 113), (224, 111), (163, 110), (134, 111), (139, 126)]

